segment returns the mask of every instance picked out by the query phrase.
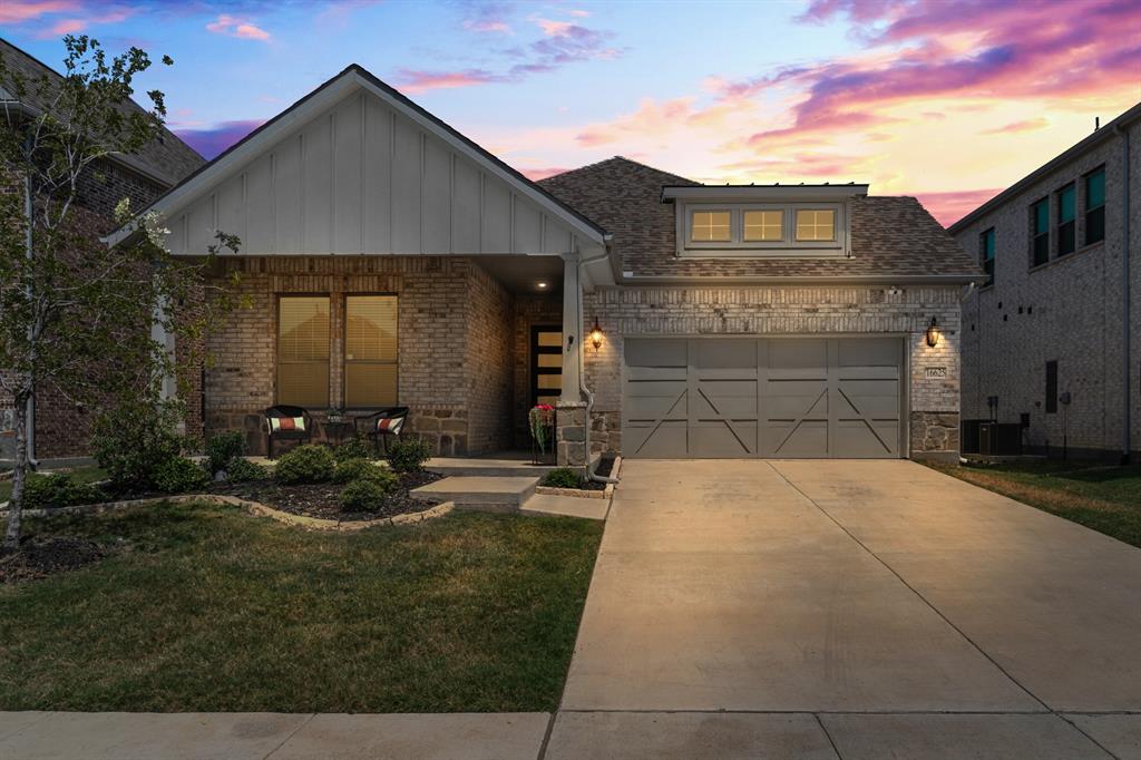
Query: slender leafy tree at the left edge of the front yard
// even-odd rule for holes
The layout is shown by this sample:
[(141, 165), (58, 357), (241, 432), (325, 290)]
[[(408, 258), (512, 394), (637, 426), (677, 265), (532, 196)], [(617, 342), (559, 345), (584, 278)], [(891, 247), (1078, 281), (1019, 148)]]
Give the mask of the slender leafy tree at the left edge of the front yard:
[[(133, 215), (126, 199), (114, 223), (133, 233), (115, 246), (99, 240), (111, 228), (80, 203), (83, 181), (156, 139), (167, 110), (157, 90), (146, 92), (149, 108), (130, 100), (135, 78), (151, 67), (143, 50), (108, 57), (86, 35), (64, 43), (58, 78), (27, 78), (0, 56), (0, 80), (23, 106), (6, 104), (0, 126), (0, 390), (15, 404), (16, 434), (8, 550), (19, 542), (35, 388), (50, 383), (96, 412), (162, 403), (163, 379), (180, 373), (152, 328), (185, 339), (180, 346), (201, 345), (230, 306), (230, 289), (208, 280), (208, 269), (238, 245), (218, 233), (208, 256), (176, 259), (162, 220)], [(175, 308), (184, 304), (195, 308)]]

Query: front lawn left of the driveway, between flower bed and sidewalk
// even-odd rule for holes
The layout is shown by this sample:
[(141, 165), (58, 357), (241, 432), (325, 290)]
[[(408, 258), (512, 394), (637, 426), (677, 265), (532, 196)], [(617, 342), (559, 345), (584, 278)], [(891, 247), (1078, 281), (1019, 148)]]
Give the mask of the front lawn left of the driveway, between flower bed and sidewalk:
[(31, 523), (123, 548), (0, 587), (0, 710), (556, 709), (601, 524), (322, 534), (212, 506)]

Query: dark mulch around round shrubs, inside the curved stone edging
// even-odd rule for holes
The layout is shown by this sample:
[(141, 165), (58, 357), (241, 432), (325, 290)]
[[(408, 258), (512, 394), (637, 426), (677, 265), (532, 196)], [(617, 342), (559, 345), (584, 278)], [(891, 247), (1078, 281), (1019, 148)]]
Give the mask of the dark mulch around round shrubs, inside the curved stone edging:
[(420, 512), (429, 509), (431, 504), (419, 499), (413, 499), (408, 492), (435, 480), (443, 478), (436, 472), (402, 472), (397, 476), (399, 482), (381, 502), (375, 511), (349, 512), (341, 509), (341, 490), (345, 487), (340, 483), (316, 483), (308, 485), (278, 485), (273, 480), (257, 483), (216, 483), (209, 491), (228, 496), (237, 496), (250, 501), (258, 501), (267, 507), (280, 509), (291, 515), (304, 517), (318, 517), (326, 520), (378, 520), (396, 515), (407, 515), (408, 512)]

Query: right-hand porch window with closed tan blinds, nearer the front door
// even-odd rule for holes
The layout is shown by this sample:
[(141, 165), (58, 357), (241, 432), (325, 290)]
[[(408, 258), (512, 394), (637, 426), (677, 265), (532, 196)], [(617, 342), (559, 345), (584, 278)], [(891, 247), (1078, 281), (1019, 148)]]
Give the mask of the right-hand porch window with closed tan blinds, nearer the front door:
[(395, 406), (396, 296), (345, 298), (345, 405)]

